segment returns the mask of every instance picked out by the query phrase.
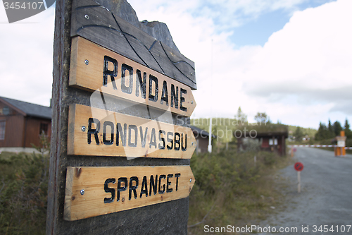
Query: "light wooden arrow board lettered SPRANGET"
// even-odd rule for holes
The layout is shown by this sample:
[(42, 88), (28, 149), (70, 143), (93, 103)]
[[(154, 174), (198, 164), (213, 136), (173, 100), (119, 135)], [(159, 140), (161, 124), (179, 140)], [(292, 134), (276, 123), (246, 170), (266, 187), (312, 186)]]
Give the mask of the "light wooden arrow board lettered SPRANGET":
[(194, 181), (189, 166), (68, 167), (64, 219), (84, 219), (186, 198)]

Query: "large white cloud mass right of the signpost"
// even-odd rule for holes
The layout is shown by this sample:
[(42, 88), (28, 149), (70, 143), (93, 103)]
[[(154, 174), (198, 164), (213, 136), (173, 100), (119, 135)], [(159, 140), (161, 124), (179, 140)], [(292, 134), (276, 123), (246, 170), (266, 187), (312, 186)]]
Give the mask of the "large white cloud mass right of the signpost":
[[(222, 18), (228, 22), (230, 15), (239, 9), (255, 17), (263, 11), (292, 9), (302, 2), (216, 1), (213, 4), (226, 6), (221, 8), (225, 9)], [(136, 5), (134, 1), (131, 4)], [(340, 0), (297, 11), (263, 47), (240, 49), (234, 49), (229, 41), (231, 32), (218, 33), (215, 21), (209, 17), (217, 14), (216, 9), (215, 13), (204, 11), (196, 18), (190, 10), (172, 11), (167, 6), (157, 14), (152, 9), (145, 11), (144, 6), (135, 9), (139, 18), (142, 15), (143, 19), (151, 20), (147, 16), (153, 15), (167, 23), (177, 47), (195, 61), (199, 88), (194, 91), (195, 117), (231, 117), (241, 106), (250, 120), (256, 112), (267, 112), (274, 121), (316, 127), (329, 116), (339, 121), (347, 116), (341, 113), (341, 104), (338, 109), (339, 99), (334, 97), (339, 96), (340, 88), (352, 85), (352, 38), (348, 30), (352, 22), (351, 4), (352, 1)], [(213, 79), (210, 79), (211, 68)]]

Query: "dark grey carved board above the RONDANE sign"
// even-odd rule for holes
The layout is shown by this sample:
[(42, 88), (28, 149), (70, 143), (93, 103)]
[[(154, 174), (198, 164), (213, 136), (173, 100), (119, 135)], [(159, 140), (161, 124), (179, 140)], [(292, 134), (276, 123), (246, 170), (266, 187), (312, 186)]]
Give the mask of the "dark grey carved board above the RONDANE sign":
[(196, 89), (193, 61), (95, 1), (74, 1), (71, 37), (77, 35)]

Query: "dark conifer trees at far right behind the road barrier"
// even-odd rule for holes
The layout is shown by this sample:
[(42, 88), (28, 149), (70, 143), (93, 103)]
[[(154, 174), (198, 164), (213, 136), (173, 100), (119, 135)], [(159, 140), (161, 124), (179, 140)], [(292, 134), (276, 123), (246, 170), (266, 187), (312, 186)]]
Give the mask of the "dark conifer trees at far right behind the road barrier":
[(340, 135), (340, 131), (345, 131), (345, 135), (347, 138), (352, 138), (352, 131), (350, 129), (350, 124), (346, 119), (344, 127), (341, 126), (339, 121), (335, 121), (333, 124), (330, 119), (327, 125), (325, 123), (320, 122), (318, 132), (315, 133), (315, 140), (327, 140), (332, 139), (337, 135)]

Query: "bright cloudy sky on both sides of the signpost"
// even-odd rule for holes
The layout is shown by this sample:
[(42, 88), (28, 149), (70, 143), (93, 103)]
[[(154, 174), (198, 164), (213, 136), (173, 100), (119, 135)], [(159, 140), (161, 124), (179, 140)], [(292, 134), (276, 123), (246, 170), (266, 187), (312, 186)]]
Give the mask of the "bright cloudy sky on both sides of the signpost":
[[(192, 118), (318, 128), (352, 121), (351, 0), (128, 1), (140, 21), (168, 25), (195, 62)], [(54, 6), (8, 24), (0, 4), (0, 96), (49, 106)]]

